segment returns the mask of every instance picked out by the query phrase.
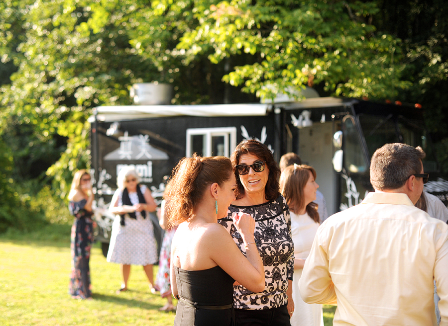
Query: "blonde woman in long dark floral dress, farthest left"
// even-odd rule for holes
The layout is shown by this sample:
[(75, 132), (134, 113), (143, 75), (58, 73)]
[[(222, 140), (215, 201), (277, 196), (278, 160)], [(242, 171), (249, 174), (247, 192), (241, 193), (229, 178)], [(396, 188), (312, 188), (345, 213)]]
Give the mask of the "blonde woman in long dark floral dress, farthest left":
[(90, 249), (93, 242), (92, 184), (85, 170), (75, 173), (69, 193), (69, 210), (75, 217), (71, 232), (72, 269), (69, 293), (72, 298), (92, 299), (90, 284)]

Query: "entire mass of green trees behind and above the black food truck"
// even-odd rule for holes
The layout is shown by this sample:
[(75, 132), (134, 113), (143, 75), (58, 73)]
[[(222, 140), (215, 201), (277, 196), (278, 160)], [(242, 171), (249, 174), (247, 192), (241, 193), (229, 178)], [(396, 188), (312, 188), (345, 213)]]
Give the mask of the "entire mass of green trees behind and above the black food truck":
[(73, 172), (89, 166), (88, 117), (131, 104), (135, 82), (173, 84), (173, 104), (257, 101), (303, 85), (420, 102), (444, 138), (445, 2), (1, 1), (7, 184), (52, 182), (65, 197)]

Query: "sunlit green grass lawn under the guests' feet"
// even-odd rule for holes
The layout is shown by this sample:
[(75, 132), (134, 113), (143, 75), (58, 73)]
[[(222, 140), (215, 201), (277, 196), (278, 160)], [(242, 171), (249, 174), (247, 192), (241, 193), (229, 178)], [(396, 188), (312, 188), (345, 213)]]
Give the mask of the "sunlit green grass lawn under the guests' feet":
[[(173, 325), (175, 314), (158, 311), (166, 300), (150, 293), (142, 267), (132, 266), (130, 291), (115, 294), (121, 283), (119, 266), (106, 261), (99, 244), (90, 259), (94, 300), (72, 299), (69, 238), (67, 225), (0, 237), (1, 326)], [(332, 325), (334, 310), (324, 307), (326, 326)]]

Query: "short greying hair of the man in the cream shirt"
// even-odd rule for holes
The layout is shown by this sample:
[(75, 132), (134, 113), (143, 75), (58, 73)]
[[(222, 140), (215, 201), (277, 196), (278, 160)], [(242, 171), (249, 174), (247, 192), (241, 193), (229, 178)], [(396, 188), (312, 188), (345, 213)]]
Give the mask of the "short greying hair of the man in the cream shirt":
[(370, 183), (374, 189), (398, 189), (412, 174), (421, 172), (425, 158), (420, 146), (386, 144), (377, 149), (370, 162)]

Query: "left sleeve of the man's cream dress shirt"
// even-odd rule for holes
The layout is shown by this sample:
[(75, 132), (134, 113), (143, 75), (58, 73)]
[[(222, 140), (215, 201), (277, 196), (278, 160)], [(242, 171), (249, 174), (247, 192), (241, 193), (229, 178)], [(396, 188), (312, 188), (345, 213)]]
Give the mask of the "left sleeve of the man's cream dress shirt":
[(336, 305), (335, 285), (328, 269), (328, 248), (323, 237), (325, 231), (321, 226), (316, 233), (299, 280), (299, 291), (306, 303)]

